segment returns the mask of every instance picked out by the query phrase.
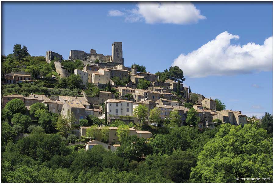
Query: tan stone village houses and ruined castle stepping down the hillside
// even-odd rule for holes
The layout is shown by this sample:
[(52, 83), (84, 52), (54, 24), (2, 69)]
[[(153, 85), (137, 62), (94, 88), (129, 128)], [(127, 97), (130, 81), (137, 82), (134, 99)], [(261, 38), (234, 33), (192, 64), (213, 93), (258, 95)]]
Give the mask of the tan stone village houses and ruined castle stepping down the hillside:
[[(56, 113), (68, 116), (72, 113), (75, 122), (81, 125), (81, 120), (87, 119), (92, 115), (102, 122), (101, 127), (109, 126), (122, 121), (127, 125), (146, 124), (149, 126), (171, 126), (168, 122), (172, 118), (177, 119), (176, 126), (197, 126), (198, 129), (213, 129), (221, 123), (230, 123), (232, 125), (244, 125), (247, 123), (247, 116), (241, 111), (228, 109), (218, 110), (214, 99), (206, 98), (202, 94), (191, 92), (190, 86), (185, 87), (183, 81), (166, 79), (159, 80), (159, 75), (150, 72), (138, 71), (137, 64), (132, 67), (124, 66), (122, 42), (112, 44), (112, 55), (103, 55), (96, 53), (91, 49), (90, 53), (81, 50), (70, 50), (69, 60), (63, 60), (63, 56), (47, 51), (45, 61), (54, 64), (55, 73), (59, 78), (66, 79), (70, 75), (78, 75), (81, 79), (80, 85), (83, 89), (80, 94), (75, 96), (63, 95), (44, 95), (44, 94), (9, 94), (2, 96), (2, 108), (13, 99), (23, 101), (25, 107), (30, 110), (31, 105), (41, 103), (48, 108), (50, 113)], [(68, 71), (62, 65), (66, 62), (80, 62), (82, 69)], [(36, 83), (37, 77), (33, 73), (12, 72), (5, 74), (5, 83), (22, 84)], [(43, 77), (42, 77), (43, 78)], [(52, 78), (56, 78), (52, 75)], [(93, 91), (88, 88), (95, 88)], [(99, 89), (96, 91), (96, 89)], [(95, 95), (92, 93), (96, 93)], [(218, 103), (218, 101), (217, 101)], [(144, 107), (145, 113), (142, 114)], [(187, 122), (190, 109), (193, 108), (196, 119), (195, 123)], [(159, 118), (154, 118), (150, 112), (157, 109)], [(191, 116), (193, 114), (191, 110)], [(175, 117), (174, 117), (175, 116)], [(192, 120), (193, 121), (193, 120)], [(69, 134), (75, 134), (77, 137), (86, 136), (86, 131), (90, 127), (79, 126), (79, 129), (72, 130)], [(109, 127), (108, 144), (118, 145), (117, 127)], [(130, 134), (136, 134), (138, 137), (151, 138), (150, 131), (135, 130), (130, 128)], [(99, 141), (99, 140), (97, 140)], [(90, 143), (87, 143), (90, 144)], [(105, 143), (101, 143), (105, 144)], [(112, 147), (111, 147), (112, 148)]]

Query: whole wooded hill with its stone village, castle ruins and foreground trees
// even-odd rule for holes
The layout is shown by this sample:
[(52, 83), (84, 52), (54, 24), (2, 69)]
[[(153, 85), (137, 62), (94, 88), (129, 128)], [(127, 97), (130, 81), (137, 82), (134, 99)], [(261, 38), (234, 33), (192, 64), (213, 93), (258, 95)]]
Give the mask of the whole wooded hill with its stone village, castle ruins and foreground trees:
[(178, 66), (127, 67), (122, 42), (111, 53), (70, 50), (64, 60), (15, 44), (2, 55), (2, 182), (272, 177), (271, 114), (226, 109), (185, 86)]

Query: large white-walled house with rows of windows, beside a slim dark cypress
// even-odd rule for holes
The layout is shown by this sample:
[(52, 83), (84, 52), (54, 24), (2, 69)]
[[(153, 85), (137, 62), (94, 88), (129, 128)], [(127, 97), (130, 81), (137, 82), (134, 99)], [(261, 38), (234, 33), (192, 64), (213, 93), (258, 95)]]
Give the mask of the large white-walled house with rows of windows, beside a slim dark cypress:
[(106, 101), (106, 113), (113, 116), (133, 116), (133, 102), (128, 100), (108, 99)]

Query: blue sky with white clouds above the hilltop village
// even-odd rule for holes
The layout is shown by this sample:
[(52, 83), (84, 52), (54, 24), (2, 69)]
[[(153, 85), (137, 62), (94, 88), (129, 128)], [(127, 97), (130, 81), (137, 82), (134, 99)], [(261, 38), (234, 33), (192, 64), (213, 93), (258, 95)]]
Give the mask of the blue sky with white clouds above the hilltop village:
[(247, 116), (272, 114), (272, 2), (2, 2), (2, 54), (14, 44), (111, 55), (151, 73), (179, 66), (185, 86)]

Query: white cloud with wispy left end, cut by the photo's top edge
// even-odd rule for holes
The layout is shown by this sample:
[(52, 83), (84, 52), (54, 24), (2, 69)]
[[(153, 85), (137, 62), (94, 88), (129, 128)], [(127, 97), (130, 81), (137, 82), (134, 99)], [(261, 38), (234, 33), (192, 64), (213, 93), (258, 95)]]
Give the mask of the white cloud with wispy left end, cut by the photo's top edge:
[(135, 9), (121, 13), (126, 22), (145, 21), (147, 24), (191, 24), (206, 19), (190, 2), (139, 2)]

